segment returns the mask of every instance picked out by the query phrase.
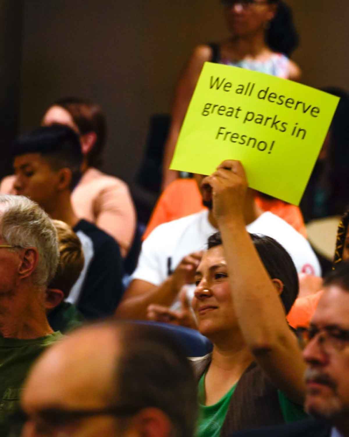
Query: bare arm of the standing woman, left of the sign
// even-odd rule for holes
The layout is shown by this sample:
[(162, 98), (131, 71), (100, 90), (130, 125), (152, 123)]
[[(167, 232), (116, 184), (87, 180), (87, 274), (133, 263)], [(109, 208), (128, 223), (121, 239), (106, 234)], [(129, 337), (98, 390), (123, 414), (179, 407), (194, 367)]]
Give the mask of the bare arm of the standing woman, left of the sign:
[(212, 57), (212, 50), (207, 45), (198, 45), (188, 64), (185, 66), (183, 73), (178, 81), (175, 91), (175, 99), (172, 106), (172, 120), (168, 133), (168, 138), (165, 144), (164, 161), (163, 161), (163, 184), (162, 188), (166, 188), (173, 180), (178, 177), (178, 172), (168, 170), (170, 166), (175, 146), (177, 143), (179, 131), (183, 123), (185, 113), (188, 109), (188, 104), (192, 98), (196, 82), (200, 76), (204, 62), (209, 61)]

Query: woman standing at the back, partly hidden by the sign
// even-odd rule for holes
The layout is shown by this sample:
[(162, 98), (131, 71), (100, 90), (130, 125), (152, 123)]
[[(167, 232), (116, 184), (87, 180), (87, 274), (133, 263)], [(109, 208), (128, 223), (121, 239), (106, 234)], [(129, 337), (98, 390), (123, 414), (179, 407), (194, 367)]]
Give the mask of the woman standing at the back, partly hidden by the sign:
[(204, 62), (237, 66), (285, 79), (299, 80), (300, 68), (288, 59), (298, 45), (292, 12), (282, 0), (221, 0), (230, 37), (198, 45), (182, 73), (175, 92), (172, 121), (165, 144), (164, 189), (178, 177), (168, 170), (179, 131)]

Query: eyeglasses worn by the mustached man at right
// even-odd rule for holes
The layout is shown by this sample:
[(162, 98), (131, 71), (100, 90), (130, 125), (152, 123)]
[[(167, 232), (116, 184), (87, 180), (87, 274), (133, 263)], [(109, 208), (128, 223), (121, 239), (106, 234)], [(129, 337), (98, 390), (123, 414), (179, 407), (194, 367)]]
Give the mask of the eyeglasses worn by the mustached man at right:
[(302, 349), (307, 347), (308, 343), (317, 335), (318, 343), (321, 344), (325, 352), (338, 352), (349, 344), (349, 329), (341, 329), (338, 326), (326, 326), (321, 329), (316, 326), (310, 326), (310, 328), (298, 326), (296, 335)]

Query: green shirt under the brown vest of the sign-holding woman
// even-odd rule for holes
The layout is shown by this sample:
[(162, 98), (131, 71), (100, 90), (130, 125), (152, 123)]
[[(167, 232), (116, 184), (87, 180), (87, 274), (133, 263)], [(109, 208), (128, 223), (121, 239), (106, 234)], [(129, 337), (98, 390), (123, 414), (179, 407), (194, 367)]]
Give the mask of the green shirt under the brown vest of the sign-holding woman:
[[(205, 406), (205, 376), (206, 373), (202, 375), (198, 383), (199, 412), (195, 437), (219, 437), (228, 412), (230, 399), (235, 391), (237, 383), (233, 385), (229, 392), (219, 399), (216, 404)], [(286, 423), (295, 422), (296, 420), (302, 420), (308, 417), (303, 408), (290, 401), (283, 392), (278, 390), (277, 394), (279, 397), (281, 412)]]

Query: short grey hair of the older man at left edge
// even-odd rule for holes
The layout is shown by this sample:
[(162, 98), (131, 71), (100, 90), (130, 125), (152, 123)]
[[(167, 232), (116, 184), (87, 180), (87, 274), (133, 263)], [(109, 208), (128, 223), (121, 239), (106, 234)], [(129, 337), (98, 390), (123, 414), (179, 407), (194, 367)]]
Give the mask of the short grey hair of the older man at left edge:
[(46, 212), (24, 196), (1, 194), (0, 235), (11, 246), (38, 250), (33, 284), (47, 286), (55, 276), (59, 251), (57, 232)]

